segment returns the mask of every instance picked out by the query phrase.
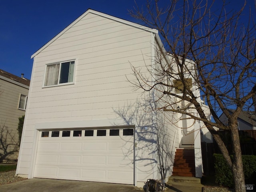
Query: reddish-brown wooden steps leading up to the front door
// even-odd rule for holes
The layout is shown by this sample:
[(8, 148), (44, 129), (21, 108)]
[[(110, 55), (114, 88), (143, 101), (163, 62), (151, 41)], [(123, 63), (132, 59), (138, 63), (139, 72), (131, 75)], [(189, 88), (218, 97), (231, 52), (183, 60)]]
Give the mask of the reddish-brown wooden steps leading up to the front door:
[(196, 176), (194, 149), (176, 150), (172, 176)]

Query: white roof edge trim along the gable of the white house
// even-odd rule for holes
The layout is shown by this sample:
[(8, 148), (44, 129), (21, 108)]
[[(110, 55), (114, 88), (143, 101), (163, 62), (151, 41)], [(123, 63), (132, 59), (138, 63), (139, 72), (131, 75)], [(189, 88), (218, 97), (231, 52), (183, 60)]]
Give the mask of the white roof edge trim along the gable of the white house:
[(129, 25), (129, 26), (133, 26), (133, 27), (135, 27), (135, 28), (139, 28), (139, 29), (142, 29), (142, 30), (145, 30), (145, 31), (148, 31), (148, 32), (155, 33), (155, 34), (157, 34), (157, 36), (156, 36), (157, 40), (158, 40), (158, 41), (160, 40), (159, 35), (158, 35), (158, 30), (156, 30), (156, 29), (148, 28), (148, 27), (146, 27), (146, 26), (142, 26), (142, 25), (139, 25), (139, 24), (136, 24), (136, 23), (127, 21), (127, 20), (123, 20), (123, 19), (120, 19), (120, 18), (117, 18), (117, 17), (114, 17), (114, 16), (110, 16), (110, 15), (104, 14), (104, 13), (102, 13), (102, 12), (98, 12), (98, 11), (95, 11), (95, 10), (92, 10), (92, 9), (88, 9), (84, 14), (82, 14), (80, 17), (78, 17), (74, 22), (72, 22), (72, 23), (71, 23), (69, 26), (67, 26), (64, 30), (62, 30), (62, 32), (60, 32), (58, 35), (56, 35), (54, 38), (52, 38), (52, 40), (50, 40), (48, 43), (46, 43), (44, 46), (42, 46), (42, 48), (40, 48), (37, 52), (35, 52), (35, 53), (31, 56), (31, 58), (34, 58), (37, 54), (39, 54), (39, 53), (40, 53), (42, 50), (44, 50), (47, 46), (49, 46), (50, 44), (52, 44), (52, 42), (54, 42), (54, 40), (56, 40), (57, 38), (59, 38), (62, 34), (64, 34), (67, 30), (69, 30), (72, 26), (74, 26), (77, 22), (79, 22), (82, 18), (84, 18), (84, 16), (86, 16), (86, 15), (89, 14), (89, 13), (96, 14), (96, 15), (98, 15), (98, 16), (102, 16), (102, 17), (105, 17), (105, 18), (114, 20), (114, 21), (116, 21), (116, 22), (120, 22), (120, 23)]

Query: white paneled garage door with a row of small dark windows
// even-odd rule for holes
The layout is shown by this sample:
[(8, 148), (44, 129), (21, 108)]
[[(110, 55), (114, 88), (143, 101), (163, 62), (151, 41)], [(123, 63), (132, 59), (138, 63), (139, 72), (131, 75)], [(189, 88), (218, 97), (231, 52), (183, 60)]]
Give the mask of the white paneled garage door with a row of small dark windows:
[(40, 132), (34, 177), (134, 184), (133, 129)]

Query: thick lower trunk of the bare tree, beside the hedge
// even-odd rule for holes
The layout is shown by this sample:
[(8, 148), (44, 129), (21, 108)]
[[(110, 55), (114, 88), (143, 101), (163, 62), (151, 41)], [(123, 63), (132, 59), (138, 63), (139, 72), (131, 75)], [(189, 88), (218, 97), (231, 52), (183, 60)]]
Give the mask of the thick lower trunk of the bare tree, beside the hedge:
[(231, 128), (231, 138), (234, 148), (234, 161), (232, 164), (232, 173), (234, 176), (234, 189), (235, 192), (246, 192), (244, 182), (244, 170), (242, 163), (242, 152), (240, 147), (239, 133), (236, 126)]

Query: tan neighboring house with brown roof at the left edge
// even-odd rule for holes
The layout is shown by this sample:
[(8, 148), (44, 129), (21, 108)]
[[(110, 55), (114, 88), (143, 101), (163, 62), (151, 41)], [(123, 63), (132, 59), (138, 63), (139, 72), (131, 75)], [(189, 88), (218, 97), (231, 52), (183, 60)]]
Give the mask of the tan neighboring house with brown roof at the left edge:
[(19, 117), (26, 111), (30, 80), (0, 69), (0, 162), (18, 159)]

